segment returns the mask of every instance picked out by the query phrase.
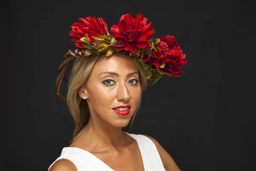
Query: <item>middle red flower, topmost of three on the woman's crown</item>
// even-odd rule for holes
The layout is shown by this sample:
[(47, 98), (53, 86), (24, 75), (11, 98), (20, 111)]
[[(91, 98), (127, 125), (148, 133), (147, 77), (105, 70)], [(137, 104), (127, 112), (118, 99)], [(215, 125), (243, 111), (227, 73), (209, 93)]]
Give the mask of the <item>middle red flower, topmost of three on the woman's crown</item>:
[(130, 14), (122, 15), (119, 24), (111, 27), (111, 33), (119, 40), (116, 51), (124, 49), (134, 53), (140, 48), (149, 49), (147, 40), (155, 32), (153, 28), (149, 29), (152, 22), (146, 25), (147, 20), (142, 14), (137, 14), (135, 19)]

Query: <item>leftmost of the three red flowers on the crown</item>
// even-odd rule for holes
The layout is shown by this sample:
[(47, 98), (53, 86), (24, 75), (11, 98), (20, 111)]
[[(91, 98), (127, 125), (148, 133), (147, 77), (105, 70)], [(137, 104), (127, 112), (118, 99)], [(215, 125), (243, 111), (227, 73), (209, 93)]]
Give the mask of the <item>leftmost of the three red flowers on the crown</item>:
[(92, 36), (98, 35), (108, 35), (108, 27), (106, 22), (102, 18), (92, 18), (90, 16), (85, 18), (79, 18), (81, 23), (72, 24), (72, 31), (69, 32), (69, 35), (74, 39), (71, 41), (76, 43), (76, 46), (82, 49), (85, 47), (81, 44), (80, 39), (85, 37), (88, 34), (90, 42), (94, 43)]

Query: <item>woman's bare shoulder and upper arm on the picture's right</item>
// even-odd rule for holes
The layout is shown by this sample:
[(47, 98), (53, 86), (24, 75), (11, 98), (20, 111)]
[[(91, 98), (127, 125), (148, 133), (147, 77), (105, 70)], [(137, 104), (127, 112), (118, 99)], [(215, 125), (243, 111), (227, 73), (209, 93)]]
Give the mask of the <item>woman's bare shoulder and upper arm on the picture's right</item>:
[(170, 154), (159, 144), (159, 142), (157, 142), (156, 139), (148, 135), (144, 135), (144, 136), (148, 137), (154, 142), (166, 171), (180, 171), (180, 168), (178, 168), (178, 166), (176, 165), (175, 161), (172, 159)]

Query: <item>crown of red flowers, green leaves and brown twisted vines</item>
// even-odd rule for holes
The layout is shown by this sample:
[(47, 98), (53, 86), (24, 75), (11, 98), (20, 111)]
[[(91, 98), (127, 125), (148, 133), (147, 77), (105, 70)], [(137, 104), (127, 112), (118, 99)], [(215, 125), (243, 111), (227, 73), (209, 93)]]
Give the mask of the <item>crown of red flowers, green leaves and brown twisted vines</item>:
[(88, 16), (79, 20), (81, 23), (72, 24), (72, 31), (69, 32), (73, 37), (71, 41), (76, 43), (78, 49), (75, 52), (69, 50), (65, 54), (66, 60), (60, 65), (60, 74), (56, 80), (57, 94), (65, 103), (67, 101), (60, 93), (60, 85), (63, 78), (68, 81), (64, 72), (73, 58), (100, 53), (106, 53), (106, 56), (125, 53), (136, 57), (143, 65), (148, 80), (147, 86), (154, 78), (151, 85), (163, 75), (178, 77), (183, 73), (178, 67), (186, 65), (187, 61), (183, 61), (186, 55), (182, 53), (175, 38), (169, 35), (151, 38), (155, 33), (153, 28), (149, 29), (152, 22), (147, 24), (147, 18), (142, 14), (137, 14), (135, 18), (130, 14), (122, 15), (119, 23), (111, 27), (112, 35), (109, 34), (108, 26), (102, 18)]

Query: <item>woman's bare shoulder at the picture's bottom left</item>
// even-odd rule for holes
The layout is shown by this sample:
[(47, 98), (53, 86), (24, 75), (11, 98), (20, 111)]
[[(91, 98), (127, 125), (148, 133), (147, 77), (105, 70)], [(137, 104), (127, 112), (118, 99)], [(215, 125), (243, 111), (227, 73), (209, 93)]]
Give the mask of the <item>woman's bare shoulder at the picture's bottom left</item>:
[(73, 162), (68, 159), (59, 159), (55, 162), (49, 171), (77, 171)]

